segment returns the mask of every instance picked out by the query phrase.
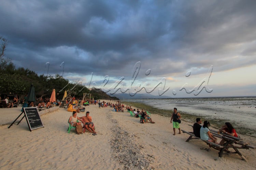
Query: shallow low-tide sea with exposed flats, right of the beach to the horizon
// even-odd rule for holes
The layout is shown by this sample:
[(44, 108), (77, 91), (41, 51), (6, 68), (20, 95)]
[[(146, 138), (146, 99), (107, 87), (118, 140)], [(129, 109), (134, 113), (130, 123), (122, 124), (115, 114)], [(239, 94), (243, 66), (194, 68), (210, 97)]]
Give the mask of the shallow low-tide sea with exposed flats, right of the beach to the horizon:
[[(256, 97), (126, 99), (125, 102), (143, 103), (165, 109), (170, 114), (176, 107), (181, 116), (190, 121), (200, 117), (220, 127), (230, 122), (238, 133), (256, 137)], [(192, 119), (192, 120), (191, 120)]]

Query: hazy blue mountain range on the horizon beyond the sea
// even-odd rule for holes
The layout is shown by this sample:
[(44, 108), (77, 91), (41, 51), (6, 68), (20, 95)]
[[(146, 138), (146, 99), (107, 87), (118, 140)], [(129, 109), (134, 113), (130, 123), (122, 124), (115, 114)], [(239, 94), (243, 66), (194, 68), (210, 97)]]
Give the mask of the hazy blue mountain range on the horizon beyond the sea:
[[(108, 94), (110, 95), (110, 94)], [(119, 99), (157, 99), (157, 98), (171, 98), (170, 96), (155, 96), (148, 93), (144, 94), (136, 94), (134, 96), (130, 96), (127, 93), (118, 93), (114, 95), (110, 95), (111, 97), (117, 97)]]

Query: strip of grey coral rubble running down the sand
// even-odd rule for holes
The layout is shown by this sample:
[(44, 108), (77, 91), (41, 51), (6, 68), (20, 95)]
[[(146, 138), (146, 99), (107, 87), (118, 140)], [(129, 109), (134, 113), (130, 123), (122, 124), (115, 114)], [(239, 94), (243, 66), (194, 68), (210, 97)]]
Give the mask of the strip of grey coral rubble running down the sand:
[(115, 130), (110, 139), (112, 158), (123, 164), (125, 169), (151, 169), (150, 163), (153, 163), (154, 160), (152, 157), (145, 157), (140, 153), (140, 149), (143, 147), (134, 143), (132, 140), (134, 135), (124, 131), (111, 113), (107, 114), (107, 118), (112, 122), (111, 129)]

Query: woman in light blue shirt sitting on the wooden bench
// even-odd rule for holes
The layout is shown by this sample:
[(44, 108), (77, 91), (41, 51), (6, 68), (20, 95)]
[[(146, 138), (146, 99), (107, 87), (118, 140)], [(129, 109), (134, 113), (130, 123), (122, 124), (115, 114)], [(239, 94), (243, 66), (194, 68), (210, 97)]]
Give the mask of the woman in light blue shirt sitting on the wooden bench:
[[(217, 138), (214, 137), (213, 134), (210, 132), (209, 127), (210, 127), (210, 122), (205, 120), (203, 122), (202, 128), (200, 129), (200, 138), (202, 140), (207, 140), (207, 141), (214, 142), (214, 143), (218, 144)], [(209, 146), (211, 147), (210, 144), (209, 144)]]

